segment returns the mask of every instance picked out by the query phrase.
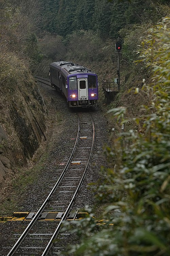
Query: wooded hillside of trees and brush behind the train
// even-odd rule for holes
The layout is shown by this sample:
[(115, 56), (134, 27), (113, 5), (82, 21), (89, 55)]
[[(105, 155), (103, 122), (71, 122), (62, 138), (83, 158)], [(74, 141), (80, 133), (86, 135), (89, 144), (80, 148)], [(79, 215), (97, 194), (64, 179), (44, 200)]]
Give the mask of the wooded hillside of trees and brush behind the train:
[(47, 63), (60, 58), (113, 64), (119, 36), (122, 59), (131, 64), (147, 29), (168, 14), (168, 0), (3, 0), (0, 49), (44, 75)]

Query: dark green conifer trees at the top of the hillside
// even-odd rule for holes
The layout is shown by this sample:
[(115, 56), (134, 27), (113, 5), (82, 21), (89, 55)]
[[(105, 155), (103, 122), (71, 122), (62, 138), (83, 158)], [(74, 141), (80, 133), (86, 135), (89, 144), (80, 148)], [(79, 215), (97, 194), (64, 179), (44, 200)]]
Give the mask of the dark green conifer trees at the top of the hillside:
[(77, 30), (92, 30), (102, 37), (116, 38), (129, 24), (157, 22), (168, 15), (168, 1), (107, 0), (43, 1), (42, 30), (63, 37)]

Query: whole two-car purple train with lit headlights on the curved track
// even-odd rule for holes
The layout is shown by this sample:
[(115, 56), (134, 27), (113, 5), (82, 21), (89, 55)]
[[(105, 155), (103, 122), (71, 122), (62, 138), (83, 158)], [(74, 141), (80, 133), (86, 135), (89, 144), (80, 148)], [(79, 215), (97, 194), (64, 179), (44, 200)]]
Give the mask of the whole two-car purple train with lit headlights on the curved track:
[(91, 70), (72, 62), (50, 63), (50, 80), (62, 92), (70, 108), (98, 105), (98, 78)]

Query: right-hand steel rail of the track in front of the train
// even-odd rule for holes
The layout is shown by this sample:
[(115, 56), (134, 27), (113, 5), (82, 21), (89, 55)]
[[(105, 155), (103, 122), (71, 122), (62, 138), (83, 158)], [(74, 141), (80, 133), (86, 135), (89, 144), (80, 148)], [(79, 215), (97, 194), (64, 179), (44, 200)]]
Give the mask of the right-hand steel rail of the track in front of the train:
[(91, 161), (91, 157), (92, 157), (92, 153), (93, 153), (93, 148), (94, 148), (94, 143), (95, 143), (95, 126), (94, 126), (94, 121), (93, 121), (91, 113), (90, 113), (90, 117), (91, 117), (91, 123), (92, 123), (92, 127), (93, 127), (93, 137), (92, 137), (92, 146), (91, 146), (90, 155), (89, 155), (89, 158), (88, 158), (88, 161), (87, 161), (87, 165), (85, 167), (85, 170), (84, 170), (83, 176), (82, 176), (82, 178), (80, 180), (80, 183), (79, 183), (79, 185), (77, 187), (77, 190), (75, 191), (75, 193), (74, 193), (74, 195), (73, 195), (73, 197), (71, 199), (71, 202), (70, 202), (69, 206), (67, 207), (64, 215), (63, 215), (63, 218), (61, 219), (60, 223), (58, 224), (57, 228), (55, 229), (55, 231), (54, 231), (54, 233), (53, 233), (53, 235), (52, 235), (48, 245), (46, 246), (46, 248), (45, 248), (43, 254), (41, 254), (41, 256), (47, 256), (48, 252), (50, 251), (50, 249), (51, 249), (51, 247), (53, 245), (53, 242), (56, 239), (56, 237), (57, 237), (57, 235), (58, 235), (58, 233), (60, 231), (61, 225), (62, 225), (63, 221), (66, 220), (66, 218), (67, 218), (67, 216), (68, 216), (68, 214), (70, 212), (70, 209), (71, 209), (71, 207), (73, 205), (74, 199), (77, 196), (77, 194), (78, 194), (78, 192), (79, 192), (79, 190), (80, 190), (80, 188), (82, 186), (83, 180), (84, 180), (86, 172), (87, 172), (87, 168), (88, 168), (89, 163)]

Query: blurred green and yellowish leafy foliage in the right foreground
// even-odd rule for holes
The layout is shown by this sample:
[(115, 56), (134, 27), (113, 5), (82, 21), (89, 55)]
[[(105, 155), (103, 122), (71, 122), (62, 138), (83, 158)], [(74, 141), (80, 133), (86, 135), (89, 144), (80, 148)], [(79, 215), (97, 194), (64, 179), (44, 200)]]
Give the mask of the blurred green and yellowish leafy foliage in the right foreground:
[[(170, 255), (169, 37), (167, 17), (142, 43), (141, 63), (152, 74), (142, 90), (150, 101), (142, 106), (145, 114), (133, 118), (138, 130), (120, 134), (113, 147), (105, 148), (111, 167), (102, 169), (104, 182), (97, 198), (108, 204), (103, 213), (108, 221), (95, 230), (94, 221), (86, 219), (88, 239), (73, 247), (74, 255)], [(125, 119), (124, 108), (110, 113), (122, 124), (132, 121)], [(86, 231), (83, 221), (81, 229)]]

